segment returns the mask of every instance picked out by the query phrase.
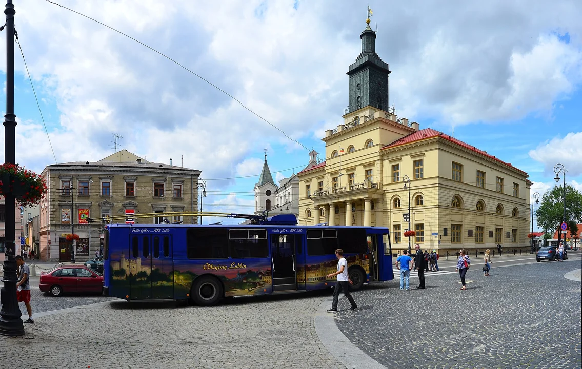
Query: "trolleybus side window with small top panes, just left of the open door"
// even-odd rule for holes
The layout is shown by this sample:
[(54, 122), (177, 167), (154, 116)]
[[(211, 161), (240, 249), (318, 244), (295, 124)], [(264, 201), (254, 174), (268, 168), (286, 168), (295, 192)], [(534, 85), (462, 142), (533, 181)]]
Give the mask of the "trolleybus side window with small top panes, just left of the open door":
[(269, 256), (266, 229), (230, 229), (229, 239), (232, 258)]

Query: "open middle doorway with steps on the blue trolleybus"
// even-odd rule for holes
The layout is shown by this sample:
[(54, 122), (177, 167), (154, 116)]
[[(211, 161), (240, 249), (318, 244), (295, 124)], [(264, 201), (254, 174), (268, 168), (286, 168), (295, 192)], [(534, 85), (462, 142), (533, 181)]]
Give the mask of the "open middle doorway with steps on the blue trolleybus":
[[(294, 234), (271, 235), (271, 262), (273, 269), (273, 292), (297, 289), (296, 245)], [(300, 241), (299, 241), (300, 242)]]

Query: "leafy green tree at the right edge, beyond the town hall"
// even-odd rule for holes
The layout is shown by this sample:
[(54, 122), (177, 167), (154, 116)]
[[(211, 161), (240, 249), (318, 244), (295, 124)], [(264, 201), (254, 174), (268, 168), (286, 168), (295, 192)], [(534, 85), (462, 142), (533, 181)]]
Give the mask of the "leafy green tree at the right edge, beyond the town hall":
[[(542, 195), (541, 205), (535, 211), (538, 226), (553, 235), (564, 217), (564, 187), (556, 184)], [(566, 223), (572, 232), (577, 232), (577, 223), (582, 220), (582, 193), (566, 184)]]

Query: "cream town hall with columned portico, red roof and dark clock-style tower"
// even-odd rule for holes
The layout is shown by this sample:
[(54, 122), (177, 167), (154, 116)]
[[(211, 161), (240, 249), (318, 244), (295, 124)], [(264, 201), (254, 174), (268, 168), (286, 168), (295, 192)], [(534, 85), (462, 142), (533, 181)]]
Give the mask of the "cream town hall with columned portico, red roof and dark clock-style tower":
[(411, 243), (441, 254), (529, 247), (527, 173), (398, 118), (388, 106), (391, 71), (375, 53), (375, 33), (368, 26), (361, 38), (362, 53), (347, 73), (344, 122), (322, 139), (325, 162), (299, 173), (299, 223), (385, 226), (393, 251), (408, 247), (409, 221)]

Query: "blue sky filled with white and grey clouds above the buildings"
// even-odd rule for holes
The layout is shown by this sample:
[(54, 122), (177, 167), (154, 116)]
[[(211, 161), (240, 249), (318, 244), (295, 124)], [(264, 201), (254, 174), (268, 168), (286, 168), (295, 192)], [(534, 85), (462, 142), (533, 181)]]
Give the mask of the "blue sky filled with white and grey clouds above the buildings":
[[(325, 130), (343, 122), (367, 11), (331, 0), (56, 2), (183, 66), (48, 1), (17, 2), (56, 161), (104, 158), (118, 133), (148, 161), (202, 171), (204, 210), (233, 212), (254, 209), (264, 148), (276, 180), (303, 169), (311, 148), (324, 152)], [(526, 171), (533, 191), (555, 184), (558, 162), (582, 190), (582, 2), (370, 6), (399, 117), (454, 126), (457, 139)], [(15, 68), (16, 158), (41, 172), (55, 157), (18, 45)]]

